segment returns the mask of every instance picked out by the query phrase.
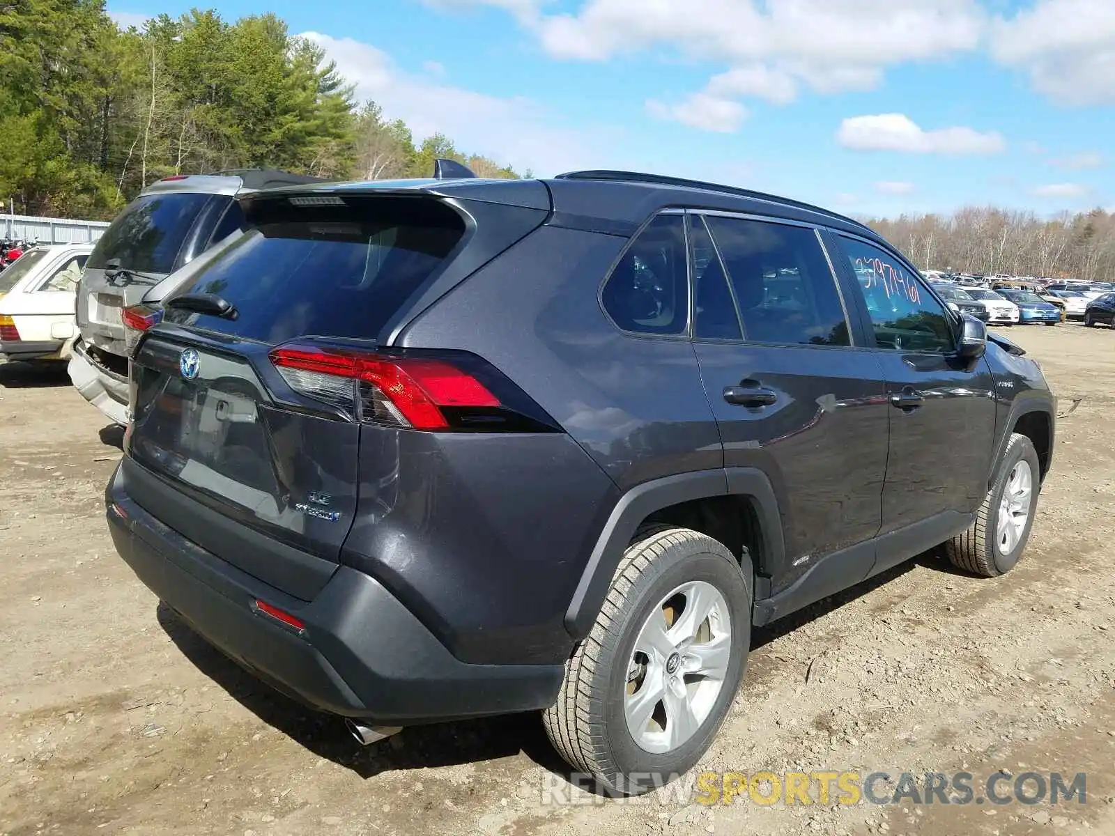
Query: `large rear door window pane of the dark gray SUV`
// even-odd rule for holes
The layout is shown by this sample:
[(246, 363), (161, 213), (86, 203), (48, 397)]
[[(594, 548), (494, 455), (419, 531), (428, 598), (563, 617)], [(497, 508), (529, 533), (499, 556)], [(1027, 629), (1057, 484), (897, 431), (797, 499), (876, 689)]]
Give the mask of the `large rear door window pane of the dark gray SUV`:
[(749, 342), (850, 346), (836, 280), (803, 226), (708, 216)]

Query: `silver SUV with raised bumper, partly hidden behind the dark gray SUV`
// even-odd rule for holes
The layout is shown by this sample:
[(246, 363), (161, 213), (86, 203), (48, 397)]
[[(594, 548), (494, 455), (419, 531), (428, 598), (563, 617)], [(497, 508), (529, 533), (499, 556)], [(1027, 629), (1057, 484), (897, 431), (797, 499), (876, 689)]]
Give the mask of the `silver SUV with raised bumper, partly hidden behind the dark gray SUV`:
[(184, 268), (239, 233), (244, 217), (235, 197), (317, 182), (244, 168), (175, 175), (147, 186), (97, 242), (78, 285), (80, 336), (69, 375), (81, 396), (115, 422), (127, 424), (128, 352), (151, 321), (144, 314), (157, 317), (162, 299), (192, 274)]

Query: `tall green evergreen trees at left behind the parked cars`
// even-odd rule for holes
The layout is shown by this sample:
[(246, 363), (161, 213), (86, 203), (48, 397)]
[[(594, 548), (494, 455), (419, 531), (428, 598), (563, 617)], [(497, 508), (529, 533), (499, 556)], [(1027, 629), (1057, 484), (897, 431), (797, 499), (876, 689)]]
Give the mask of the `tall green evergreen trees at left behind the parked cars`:
[(356, 101), (321, 48), (274, 14), (194, 10), (122, 31), (103, 0), (0, 0), (4, 210), (107, 218), (172, 174), (429, 176), (436, 156), (518, 176)]

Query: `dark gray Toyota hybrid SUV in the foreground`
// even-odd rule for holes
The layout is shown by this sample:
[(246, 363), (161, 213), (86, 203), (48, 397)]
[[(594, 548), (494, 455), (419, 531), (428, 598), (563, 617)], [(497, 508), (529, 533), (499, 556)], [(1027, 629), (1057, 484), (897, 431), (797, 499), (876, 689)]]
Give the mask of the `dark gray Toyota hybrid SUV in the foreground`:
[(854, 221), (622, 172), (240, 203), (135, 349), (108, 521), (361, 741), (542, 710), (639, 793), (707, 749), (753, 625), (1026, 545), (1041, 371)]

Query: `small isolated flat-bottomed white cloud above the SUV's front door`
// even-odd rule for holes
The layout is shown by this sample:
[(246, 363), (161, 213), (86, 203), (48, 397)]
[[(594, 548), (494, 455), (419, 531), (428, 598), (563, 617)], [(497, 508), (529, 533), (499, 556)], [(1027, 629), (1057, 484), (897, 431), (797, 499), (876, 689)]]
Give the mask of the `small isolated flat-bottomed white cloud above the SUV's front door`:
[(1006, 142), (995, 133), (967, 127), (922, 129), (904, 114), (852, 116), (841, 123), (836, 142), (854, 150), (896, 150), (908, 154), (998, 154)]

